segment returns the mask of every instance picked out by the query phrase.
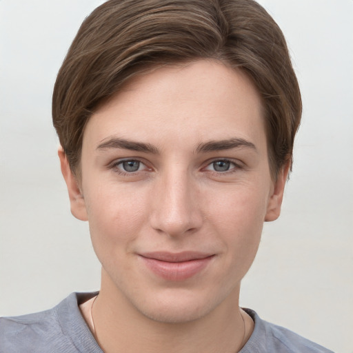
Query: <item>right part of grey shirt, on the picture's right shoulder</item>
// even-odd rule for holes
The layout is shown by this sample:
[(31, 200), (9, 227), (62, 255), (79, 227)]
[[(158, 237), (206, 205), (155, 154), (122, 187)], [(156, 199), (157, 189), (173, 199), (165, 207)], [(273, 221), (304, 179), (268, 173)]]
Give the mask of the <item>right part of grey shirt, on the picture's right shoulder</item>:
[(262, 320), (256, 312), (245, 311), (254, 320), (254, 332), (240, 353), (334, 353), (291, 330)]

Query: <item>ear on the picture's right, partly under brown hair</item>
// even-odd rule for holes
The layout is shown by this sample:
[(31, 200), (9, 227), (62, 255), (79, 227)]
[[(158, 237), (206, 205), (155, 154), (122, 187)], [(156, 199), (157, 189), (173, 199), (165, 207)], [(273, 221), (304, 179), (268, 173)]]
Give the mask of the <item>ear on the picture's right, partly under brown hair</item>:
[(283, 200), (283, 192), (285, 187), (285, 182), (288, 178), (288, 172), (290, 170), (290, 161), (286, 163), (283, 168), (279, 171), (277, 180), (274, 183), (274, 188), (270, 199), (268, 200), (268, 209), (265, 215), (265, 222), (275, 221), (279, 218), (281, 214), (281, 205)]

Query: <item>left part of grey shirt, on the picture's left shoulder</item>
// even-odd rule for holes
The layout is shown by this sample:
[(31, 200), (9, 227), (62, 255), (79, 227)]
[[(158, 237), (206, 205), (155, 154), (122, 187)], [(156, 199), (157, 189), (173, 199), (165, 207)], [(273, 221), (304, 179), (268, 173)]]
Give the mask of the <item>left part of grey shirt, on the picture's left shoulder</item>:
[(0, 318), (0, 352), (97, 352), (73, 293), (50, 310)]

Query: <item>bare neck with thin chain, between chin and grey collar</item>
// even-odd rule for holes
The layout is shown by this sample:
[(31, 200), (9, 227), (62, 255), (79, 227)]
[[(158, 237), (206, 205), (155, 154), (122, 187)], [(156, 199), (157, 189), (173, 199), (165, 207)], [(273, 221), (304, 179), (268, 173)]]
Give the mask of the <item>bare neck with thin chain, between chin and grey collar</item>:
[(239, 290), (199, 319), (165, 323), (143, 315), (121, 292), (103, 284), (92, 316), (94, 336), (105, 353), (234, 353), (252, 331), (250, 317), (239, 308)]

